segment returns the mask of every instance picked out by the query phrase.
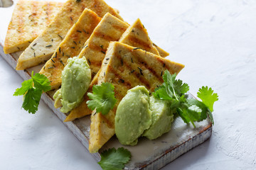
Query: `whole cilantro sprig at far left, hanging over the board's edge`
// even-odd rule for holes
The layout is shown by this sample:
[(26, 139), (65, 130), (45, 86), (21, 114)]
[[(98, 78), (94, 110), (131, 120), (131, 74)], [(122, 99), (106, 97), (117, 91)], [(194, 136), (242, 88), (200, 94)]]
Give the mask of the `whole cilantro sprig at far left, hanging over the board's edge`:
[(21, 88), (16, 89), (14, 96), (24, 96), (22, 108), (28, 113), (38, 111), (39, 101), (43, 92), (50, 91), (50, 81), (43, 74), (31, 74), (31, 79), (21, 83)]

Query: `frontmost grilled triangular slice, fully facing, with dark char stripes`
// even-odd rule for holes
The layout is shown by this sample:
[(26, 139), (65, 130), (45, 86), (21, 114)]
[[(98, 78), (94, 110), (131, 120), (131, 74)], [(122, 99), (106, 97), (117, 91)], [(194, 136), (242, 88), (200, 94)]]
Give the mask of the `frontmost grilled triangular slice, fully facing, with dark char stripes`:
[(102, 62), (97, 84), (112, 83), (117, 103), (107, 115), (91, 115), (89, 151), (97, 152), (114, 135), (115, 111), (129, 89), (142, 85), (152, 92), (163, 82), (161, 76), (166, 69), (171, 74), (178, 74), (183, 67), (183, 64), (171, 62), (151, 52), (121, 42), (111, 42)]

